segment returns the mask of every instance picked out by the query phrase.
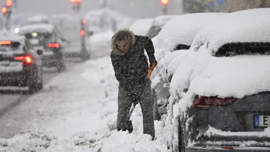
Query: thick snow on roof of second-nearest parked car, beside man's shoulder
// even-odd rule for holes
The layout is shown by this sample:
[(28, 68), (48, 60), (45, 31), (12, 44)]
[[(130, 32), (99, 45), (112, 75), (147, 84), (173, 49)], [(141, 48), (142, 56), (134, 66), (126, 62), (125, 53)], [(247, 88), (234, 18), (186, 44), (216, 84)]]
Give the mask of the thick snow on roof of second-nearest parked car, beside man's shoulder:
[(159, 34), (152, 39), (155, 48), (173, 49), (178, 44), (190, 46), (204, 25), (227, 13), (184, 14), (167, 22)]

